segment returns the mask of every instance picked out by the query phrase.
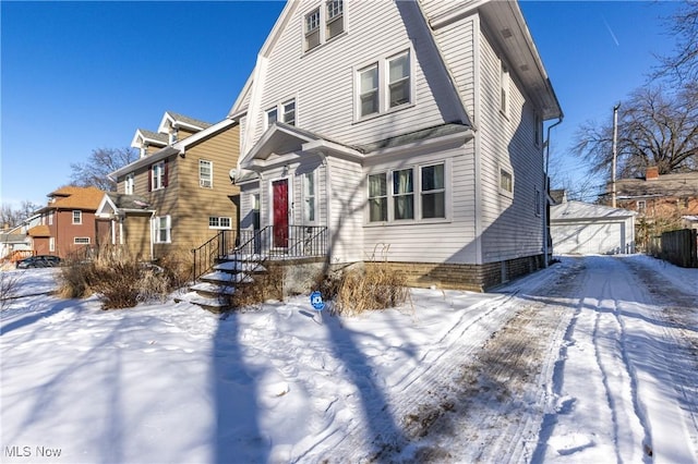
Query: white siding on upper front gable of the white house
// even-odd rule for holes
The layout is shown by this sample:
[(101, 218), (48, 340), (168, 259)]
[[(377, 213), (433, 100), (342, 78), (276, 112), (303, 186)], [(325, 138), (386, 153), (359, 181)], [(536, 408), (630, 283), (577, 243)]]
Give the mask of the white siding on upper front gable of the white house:
[[(252, 134), (249, 139), (245, 137), (245, 147), (252, 147), (266, 130), (264, 110), (285, 101), (289, 95), (297, 96), (297, 112), (302, 110), (302, 121), (297, 114), (297, 125), (346, 144), (372, 143), (458, 120), (457, 102), (454, 101), (453, 94), (447, 91), (450, 85), (447, 74), (442, 71), (433, 72), (428, 82), (422, 71), (423, 65), (440, 66), (438, 57), (430, 45), (429, 34), (417, 22), (418, 16), (408, 16), (410, 22), (412, 19), (416, 22), (406, 26), (402, 23), (404, 13), (400, 12), (402, 8), (413, 9), (416, 5), (374, 1), (345, 2), (347, 34), (341, 35), (342, 39), (332, 40), (327, 44), (328, 47), (318, 47), (313, 52), (300, 54), (299, 38), (304, 33), (303, 19), (310, 10), (300, 7), (296, 9), (288, 26), (280, 32), (266, 58), (260, 77), (263, 88), (256, 94), (260, 98), (256, 103), (260, 111), (250, 113), (254, 121), (248, 120), (245, 129), (252, 131)], [(366, 47), (370, 56), (366, 56)], [(411, 105), (400, 106), (399, 115), (396, 113), (385, 118), (371, 118), (356, 124), (359, 114), (358, 71), (375, 60), (385, 60), (406, 50), (410, 50), (412, 66)], [(416, 60), (412, 54), (420, 50), (422, 56), (420, 60)], [(350, 73), (350, 69), (356, 72)], [(438, 105), (434, 93), (441, 100)]]

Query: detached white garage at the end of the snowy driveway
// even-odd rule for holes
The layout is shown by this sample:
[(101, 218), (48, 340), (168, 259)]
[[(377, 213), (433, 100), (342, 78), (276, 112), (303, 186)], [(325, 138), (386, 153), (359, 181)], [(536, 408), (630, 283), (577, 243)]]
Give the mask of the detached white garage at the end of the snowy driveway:
[(581, 202), (550, 208), (553, 253), (617, 255), (635, 253), (635, 216), (627, 209)]

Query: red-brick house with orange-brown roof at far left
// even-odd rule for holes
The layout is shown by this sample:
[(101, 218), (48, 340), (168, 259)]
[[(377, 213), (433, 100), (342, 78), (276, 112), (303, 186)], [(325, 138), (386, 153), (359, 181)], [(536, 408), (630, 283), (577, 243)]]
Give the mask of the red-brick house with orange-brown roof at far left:
[(38, 224), (26, 232), (35, 254), (67, 258), (73, 252), (99, 245), (105, 231), (95, 211), (104, 195), (97, 187), (75, 186), (48, 194), (48, 204), (36, 211)]

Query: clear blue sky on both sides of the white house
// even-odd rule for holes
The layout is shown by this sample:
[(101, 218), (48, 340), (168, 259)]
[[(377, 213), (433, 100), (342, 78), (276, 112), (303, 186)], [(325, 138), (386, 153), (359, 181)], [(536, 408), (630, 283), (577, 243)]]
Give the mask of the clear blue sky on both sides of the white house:
[[(375, 1), (375, 0), (368, 0)], [(587, 120), (643, 85), (672, 50), (676, 2), (526, 1), (521, 10), (565, 112), (555, 173)], [(95, 148), (129, 146), (171, 110), (224, 119), (284, 8), (280, 1), (2, 1), (0, 203), (44, 204)], [(599, 182), (601, 183), (601, 181)], [(593, 198), (589, 198), (593, 199)]]

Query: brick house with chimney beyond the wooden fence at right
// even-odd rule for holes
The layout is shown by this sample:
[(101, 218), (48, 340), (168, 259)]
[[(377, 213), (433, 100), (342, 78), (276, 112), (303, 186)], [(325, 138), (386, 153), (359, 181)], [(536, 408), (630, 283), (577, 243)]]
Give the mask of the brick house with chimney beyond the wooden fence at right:
[(647, 168), (645, 178), (616, 181), (616, 206), (637, 211), (637, 242), (646, 249), (652, 236), (690, 228), (689, 219), (698, 216), (698, 172), (659, 174)]

